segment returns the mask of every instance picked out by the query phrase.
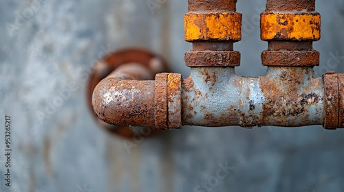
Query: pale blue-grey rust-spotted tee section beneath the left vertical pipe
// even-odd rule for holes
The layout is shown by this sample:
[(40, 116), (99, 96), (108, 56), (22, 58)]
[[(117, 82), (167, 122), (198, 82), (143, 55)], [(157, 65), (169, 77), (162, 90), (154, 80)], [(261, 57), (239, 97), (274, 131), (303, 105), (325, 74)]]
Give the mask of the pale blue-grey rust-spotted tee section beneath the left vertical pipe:
[(183, 125), (239, 125), (241, 77), (233, 67), (193, 67), (182, 84)]

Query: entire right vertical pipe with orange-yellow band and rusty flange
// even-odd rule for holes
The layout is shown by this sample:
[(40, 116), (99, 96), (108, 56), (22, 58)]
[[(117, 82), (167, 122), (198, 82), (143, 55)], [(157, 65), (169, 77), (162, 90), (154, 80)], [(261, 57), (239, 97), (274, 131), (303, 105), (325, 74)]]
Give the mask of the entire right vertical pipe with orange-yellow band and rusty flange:
[(262, 64), (279, 67), (314, 67), (319, 52), (312, 41), (320, 39), (321, 16), (314, 0), (268, 0), (261, 14), (261, 40), (269, 42)]

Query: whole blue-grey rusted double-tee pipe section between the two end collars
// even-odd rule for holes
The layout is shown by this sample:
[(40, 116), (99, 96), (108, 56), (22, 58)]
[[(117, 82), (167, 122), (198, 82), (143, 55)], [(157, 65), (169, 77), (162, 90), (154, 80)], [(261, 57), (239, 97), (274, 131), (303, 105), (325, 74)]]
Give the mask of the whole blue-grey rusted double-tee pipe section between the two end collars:
[(192, 68), (183, 80), (183, 124), (302, 126), (323, 124), (323, 81), (312, 68), (270, 67), (265, 77), (233, 68)]

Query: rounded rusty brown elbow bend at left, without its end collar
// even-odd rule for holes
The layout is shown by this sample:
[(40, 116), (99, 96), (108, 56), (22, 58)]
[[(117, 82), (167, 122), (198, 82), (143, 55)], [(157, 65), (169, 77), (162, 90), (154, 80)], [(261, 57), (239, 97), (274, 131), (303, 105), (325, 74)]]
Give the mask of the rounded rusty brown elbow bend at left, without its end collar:
[(99, 119), (118, 126), (154, 126), (154, 101), (154, 81), (105, 78), (92, 95)]

